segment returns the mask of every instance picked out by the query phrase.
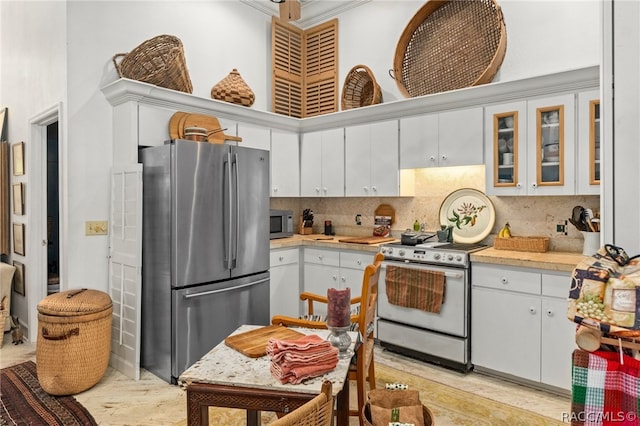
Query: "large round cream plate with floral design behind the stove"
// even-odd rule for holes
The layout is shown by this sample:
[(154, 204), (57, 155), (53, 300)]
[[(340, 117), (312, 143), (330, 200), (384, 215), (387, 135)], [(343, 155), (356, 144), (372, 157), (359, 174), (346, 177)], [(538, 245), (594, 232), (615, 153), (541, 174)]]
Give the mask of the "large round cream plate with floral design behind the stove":
[(447, 195), (440, 205), (440, 224), (452, 226), (456, 243), (482, 241), (491, 233), (495, 221), (493, 203), (477, 189), (458, 189)]

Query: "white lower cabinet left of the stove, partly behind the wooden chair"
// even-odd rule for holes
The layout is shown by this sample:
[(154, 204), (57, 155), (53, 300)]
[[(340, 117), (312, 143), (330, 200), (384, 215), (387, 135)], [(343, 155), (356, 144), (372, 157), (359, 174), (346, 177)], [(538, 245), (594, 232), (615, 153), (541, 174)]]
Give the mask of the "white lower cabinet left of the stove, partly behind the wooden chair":
[[(349, 287), (352, 298), (360, 296), (364, 268), (373, 262), (373, 256), (368, 252), (305, 248), (304, 291), (326, 296), (329, 288)], [(327, 312), (317, 305), (314, 313)]]

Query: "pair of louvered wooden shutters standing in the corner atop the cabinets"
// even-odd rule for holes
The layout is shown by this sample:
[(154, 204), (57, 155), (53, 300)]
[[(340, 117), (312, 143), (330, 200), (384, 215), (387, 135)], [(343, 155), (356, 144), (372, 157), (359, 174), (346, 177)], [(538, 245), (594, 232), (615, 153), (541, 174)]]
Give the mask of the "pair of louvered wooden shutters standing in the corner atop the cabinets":
[(338, 20), (303, 31), (271, 21), (273, 112), (309, 117), (338, 111)]

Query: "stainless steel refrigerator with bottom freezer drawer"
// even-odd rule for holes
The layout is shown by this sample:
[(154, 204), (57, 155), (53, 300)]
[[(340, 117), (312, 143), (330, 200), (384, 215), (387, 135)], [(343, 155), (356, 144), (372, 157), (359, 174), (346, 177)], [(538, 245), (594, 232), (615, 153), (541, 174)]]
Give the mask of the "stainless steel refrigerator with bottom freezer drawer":
[(176, 383), (269, 323), (269, 152), (174, 140), (143, 164), (142, 367)]

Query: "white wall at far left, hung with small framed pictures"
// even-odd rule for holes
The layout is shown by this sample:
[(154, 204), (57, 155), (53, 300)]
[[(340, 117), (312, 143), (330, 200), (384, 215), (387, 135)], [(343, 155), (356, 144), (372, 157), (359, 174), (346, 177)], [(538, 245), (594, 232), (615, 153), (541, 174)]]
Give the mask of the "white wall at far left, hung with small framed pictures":
[(38, 235), (38, 227), (32, 221), (32, 212), (41, 207), (46, 196), (36, 197), (33, 191), (40, 183), (33, 178), (37, 174), (34, 172), (41, 170), (31, 160), (41, 146), (29, 141), (29, 120), (65, 98), (66, 19), (64, 2), (0, 2), (0, 107), (9, 109), (9, 141), (24, 141), (26, 145), (26, 175), (11, 177), (12, 183), (25, 183), (27, 190), (26, 214), (12, 215), (11, 219), (26, 224), (26, 256), (12, 255), (12, 260), (25, 264), (26, 297), (17, 293), (11, 297), (12, 313), (25, 323), (29, 322), (27, 298), (39, 300), (31, 274), (37, 256), (30, 254), (43, 250), (40, 241), (46, 238), (46, 234)]

